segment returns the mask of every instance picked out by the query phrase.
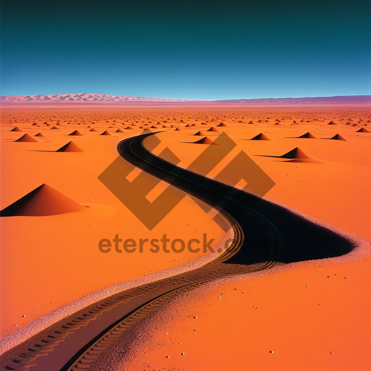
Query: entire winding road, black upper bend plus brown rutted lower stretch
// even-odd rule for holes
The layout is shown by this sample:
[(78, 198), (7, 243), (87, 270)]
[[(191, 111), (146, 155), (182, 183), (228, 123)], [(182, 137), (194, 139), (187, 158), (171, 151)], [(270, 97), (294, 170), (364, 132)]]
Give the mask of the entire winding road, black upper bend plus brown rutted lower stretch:
[[(74, 313), (1, 356), (5, 370), (89, 370), (115, 340), (175, 295), (214, 279), (280, 263), (340, 256), (351, 243), (267, 200), (152, 155), (148, 135), (118, 144), (122, 158), (218, 210), (232, 225), (229, 249), (201, 268), (125, 290)], [(42, 357), (41, 357), (42, 356)]]

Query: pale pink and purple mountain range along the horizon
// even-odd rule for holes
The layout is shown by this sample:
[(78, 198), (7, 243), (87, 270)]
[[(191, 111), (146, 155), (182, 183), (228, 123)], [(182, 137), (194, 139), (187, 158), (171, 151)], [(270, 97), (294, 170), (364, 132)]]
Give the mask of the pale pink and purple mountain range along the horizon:
[(304, 98), (257, 98), (257, 99), (223, 99), (217, 101), (200, 101), (196, 99), (147, 98), (143, 96), (111, 95), (111, 94), (55, 94), (55, 95), (2, 95), (0, 102), (194, 102), (194, 103), (292, 103), (292, 104), (346, 104), (371, 103), (371, 95), (338, 95)]

